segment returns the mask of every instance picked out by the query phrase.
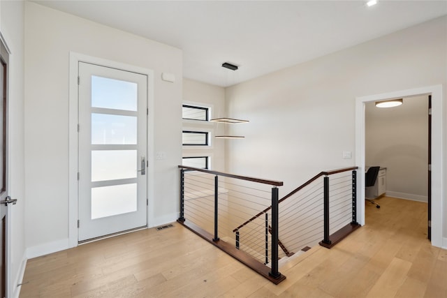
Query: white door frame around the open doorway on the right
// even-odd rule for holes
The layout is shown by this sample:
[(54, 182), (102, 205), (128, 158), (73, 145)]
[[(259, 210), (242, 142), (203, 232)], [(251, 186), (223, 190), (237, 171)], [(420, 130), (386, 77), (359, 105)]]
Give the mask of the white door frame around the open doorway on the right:
[(371, 96), (356, 98), (356, 165), (358, 169), (357, 206), (358, 223), (365, 225), (365, 103), (386, 100), (390, 98), (405, 98), (410, 96), (432, 95), (432, 245), (443, 246), (443, 228), (446, 218), (443, 218), (446, 193), (443, 179), (446, 174), (444, 162), (446, 153), (443, 150), (444, 134), (446, 133), (443, 119), (445, 98), (442, 85), (406, 89)]

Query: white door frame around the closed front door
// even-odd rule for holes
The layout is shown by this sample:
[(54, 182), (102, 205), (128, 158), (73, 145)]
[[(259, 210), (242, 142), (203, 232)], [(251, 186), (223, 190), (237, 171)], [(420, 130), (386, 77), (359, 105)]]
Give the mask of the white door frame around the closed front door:
[[(154, 190), (154, 70), (122, 64), (97, 57), (70, 52), (70, 87), (68, 97), (68, 247), (78, 246), (78, 63), (87, 62), (147, 75), (147, 198)], [(150, 205), (150, 204), (149, 204)], [(149, 217), (149, 209), (147, 216)], [(149, 227), (149, 218), (147, 218)]]

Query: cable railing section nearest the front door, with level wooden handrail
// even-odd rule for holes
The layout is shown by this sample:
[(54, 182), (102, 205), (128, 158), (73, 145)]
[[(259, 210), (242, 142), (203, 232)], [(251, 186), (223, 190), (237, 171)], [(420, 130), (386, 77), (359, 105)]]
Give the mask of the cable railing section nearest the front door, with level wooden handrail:
[[(233, 258), (277, 284), (279, 272), (279, 190), (282, 181), (245, 177), (179, 165), (179, 218), (177, 222)], [(269, 207), (261, 225), (263, 233), (233, 237), (237, 222)], [(251, 241), (250, 248), (241, 241)], [(249, 253), (250, 251), (251, 253)]]

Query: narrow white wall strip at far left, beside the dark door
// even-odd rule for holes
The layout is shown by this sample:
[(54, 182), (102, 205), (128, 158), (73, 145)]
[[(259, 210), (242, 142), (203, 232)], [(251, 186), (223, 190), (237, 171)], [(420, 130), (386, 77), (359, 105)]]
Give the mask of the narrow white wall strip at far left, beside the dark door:
[(0, 32), (10, 48), (8, 102), (8, 191), (17, 204), (8, 207), (10, 221), (8, 297), (18, 297), (25, 265), (24, 241), (24, 2), (0, 1)]

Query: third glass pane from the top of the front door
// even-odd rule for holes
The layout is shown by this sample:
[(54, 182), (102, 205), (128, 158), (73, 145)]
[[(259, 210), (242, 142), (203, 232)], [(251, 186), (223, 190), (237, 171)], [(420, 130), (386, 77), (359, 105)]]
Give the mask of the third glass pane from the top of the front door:
[(91, 181), (137, 177), (136, 150), (92, 150)]

